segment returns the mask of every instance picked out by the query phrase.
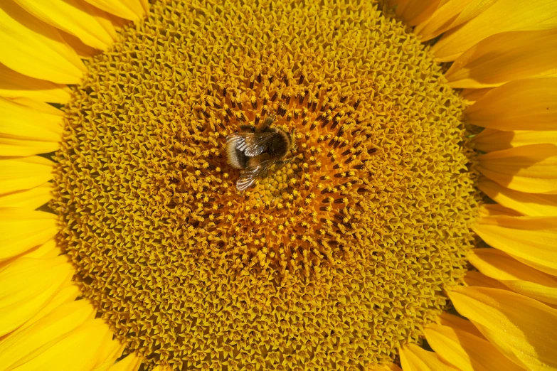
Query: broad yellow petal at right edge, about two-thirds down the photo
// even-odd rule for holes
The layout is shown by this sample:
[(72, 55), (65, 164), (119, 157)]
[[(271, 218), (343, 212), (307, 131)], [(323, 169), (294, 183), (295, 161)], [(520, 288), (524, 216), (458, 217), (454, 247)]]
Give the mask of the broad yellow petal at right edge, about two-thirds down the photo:
[(490, 246), (557, 275), (557, 217), (481, 217), (474, 231)]

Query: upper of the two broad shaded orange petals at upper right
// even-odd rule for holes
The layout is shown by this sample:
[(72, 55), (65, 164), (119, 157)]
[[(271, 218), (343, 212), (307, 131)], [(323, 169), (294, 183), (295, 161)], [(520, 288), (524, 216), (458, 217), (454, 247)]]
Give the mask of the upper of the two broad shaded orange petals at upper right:
[(462, 53), (445, 77), (450, 87), (496, 87), (557, 73), (557, 28), (497, 33)]

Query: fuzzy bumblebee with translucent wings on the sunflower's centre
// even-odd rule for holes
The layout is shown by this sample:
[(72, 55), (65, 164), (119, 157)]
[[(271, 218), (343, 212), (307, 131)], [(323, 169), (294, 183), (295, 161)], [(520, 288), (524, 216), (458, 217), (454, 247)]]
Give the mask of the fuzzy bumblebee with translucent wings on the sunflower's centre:
[(255, 179), (265, 176), (270, 166), (282, 167), (292, 158), (286, 159), (292, 151), (294, 131), (271, 127), (275, 116), (267, 117), (259, 127), (240, 125), (241, 131), (226, 136), (226, 157), (228, 164), (241, 170), (236, 182), (238, 190), (245, 190)]

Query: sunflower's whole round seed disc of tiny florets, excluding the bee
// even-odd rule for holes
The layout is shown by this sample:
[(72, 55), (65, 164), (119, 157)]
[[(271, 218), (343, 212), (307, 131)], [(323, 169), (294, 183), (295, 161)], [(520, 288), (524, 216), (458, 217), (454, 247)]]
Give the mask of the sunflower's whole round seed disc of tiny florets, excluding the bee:
[[(418, 342), (465, 274), (462, 102), (360, 3), (157, 1), (91, 60), (59, 240), (149, 367), (362, 370)], [(240, 192), (226, 136), (271, 115), (294, 148)]]

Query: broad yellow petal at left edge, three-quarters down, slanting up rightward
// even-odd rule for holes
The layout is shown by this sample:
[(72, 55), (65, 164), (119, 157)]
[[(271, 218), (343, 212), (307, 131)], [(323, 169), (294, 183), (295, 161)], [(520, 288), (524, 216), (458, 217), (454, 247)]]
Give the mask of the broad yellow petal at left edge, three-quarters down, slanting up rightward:
[(0, 271), (0, 335), (6, 335), (36, 315), (70, 281), (67, 257), (22, 257)]

